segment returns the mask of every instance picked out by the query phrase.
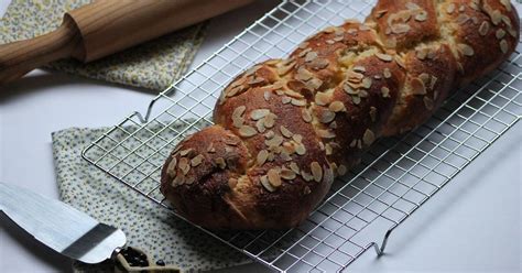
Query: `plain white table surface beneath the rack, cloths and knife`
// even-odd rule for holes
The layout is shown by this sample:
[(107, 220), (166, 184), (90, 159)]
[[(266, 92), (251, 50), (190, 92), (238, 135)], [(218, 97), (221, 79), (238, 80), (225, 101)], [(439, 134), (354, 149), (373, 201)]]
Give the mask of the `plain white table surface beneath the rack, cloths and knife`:
[[(8, 4), (0, 0), (0, 14)], [(194, 64), (275, 4), (258, 1), (213, 20)], [(146, 109), (152, 97), (135, 88), (45, 72), (0, 87), (0, 181), (57, 198), (51, 132), (112, 125), (131, 111)], [(519, 122), (394, 231), (387, 255), (376, 259), (368, 251), (350, 271), (521, 272), (521, 143)], [(70, 261), (34, 242), (4, 216), (0, 228), (0, 272), (70, 271)], [(246, 271), (265, 269), (220, 272)]]

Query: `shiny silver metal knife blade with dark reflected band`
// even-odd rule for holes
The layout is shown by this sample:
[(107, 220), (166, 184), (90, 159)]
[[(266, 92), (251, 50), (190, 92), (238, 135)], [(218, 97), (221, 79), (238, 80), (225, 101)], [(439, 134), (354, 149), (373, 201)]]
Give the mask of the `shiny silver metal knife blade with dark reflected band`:
[(102, 262), (126, 244), (123, 231), (11, 184), (0, 183), (0, 210), (45, 245), (85, 263)]

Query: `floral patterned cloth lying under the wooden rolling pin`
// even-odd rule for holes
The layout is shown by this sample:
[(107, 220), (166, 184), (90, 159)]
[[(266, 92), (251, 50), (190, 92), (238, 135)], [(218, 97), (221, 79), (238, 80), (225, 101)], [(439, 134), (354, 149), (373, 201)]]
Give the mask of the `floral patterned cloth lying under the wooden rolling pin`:
[[(12, 0), (0, 20), (0, 44), (55, 30), (66, 11), (91, 0)], [(122, 85), (163, 90), (180, 78), (194, 58), (206, 23), (196, 24), (89, 64), (62, 59), (47, 68)]]

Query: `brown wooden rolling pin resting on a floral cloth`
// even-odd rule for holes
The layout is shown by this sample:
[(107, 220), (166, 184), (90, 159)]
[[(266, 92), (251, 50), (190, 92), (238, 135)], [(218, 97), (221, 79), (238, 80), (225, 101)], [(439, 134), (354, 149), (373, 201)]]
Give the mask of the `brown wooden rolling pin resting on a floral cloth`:
[(53, 61), (95, 61), (251, 1), (98, 0), (67, 12), (54, 32), (0, 45), (0, 85)]

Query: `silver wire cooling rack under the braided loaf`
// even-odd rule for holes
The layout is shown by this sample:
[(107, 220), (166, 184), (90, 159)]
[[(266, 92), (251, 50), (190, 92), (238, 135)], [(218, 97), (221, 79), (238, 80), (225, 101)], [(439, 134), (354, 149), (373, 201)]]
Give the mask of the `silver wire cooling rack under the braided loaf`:
[[(83, 156), (172, 209), (159, 190), (163, 161), (184, 136), (211, 124), (222, 88), (246, 67), (282, 57), (306, 36), (363, 19), (372, 1), (284, 1), (197, 68), (89, 145)], [(519, 121), (522, 45), (490, 75), (459, 90), (422, 127), (382, 139), (337, 179), (301, 226), (285, 231), (205, 232), (276, 271), (340, 271), (390, 233)], [(173, 210), (175, 214), (175, 211)]]

